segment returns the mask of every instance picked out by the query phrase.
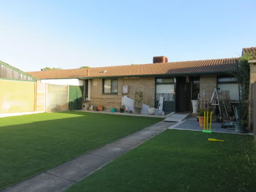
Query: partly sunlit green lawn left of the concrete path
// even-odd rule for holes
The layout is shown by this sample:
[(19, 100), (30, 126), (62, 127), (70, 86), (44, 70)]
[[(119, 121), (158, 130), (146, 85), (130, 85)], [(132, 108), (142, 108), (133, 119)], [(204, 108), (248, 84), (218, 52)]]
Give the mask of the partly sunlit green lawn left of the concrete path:
[(0, 118), (0, 190), (162, 120), (76, 111)]

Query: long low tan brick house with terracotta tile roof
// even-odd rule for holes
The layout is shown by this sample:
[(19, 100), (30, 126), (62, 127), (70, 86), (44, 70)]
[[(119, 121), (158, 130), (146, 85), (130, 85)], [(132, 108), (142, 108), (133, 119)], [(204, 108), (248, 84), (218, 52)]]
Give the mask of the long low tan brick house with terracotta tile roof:
[[(236, 69), (236, 59), (168, 62), (160, 56), (151, 64), (28, 73), (40, 79), (83, 80), (83, 101), (107, 109), (119, 109), (122, 96), (133, 99), (134, 90), (140, 89), (144, 104), (156, 107), (163, 96), (165, 113), (191, 112), (191, 99), (197, 99), (198, 94), (211, 98), (216, 87), (229, 90), (232, 102), (239, 100), (238, 84), (228, 75)], [(128, 86), (128, 93), (123, 93), (123, 86)]]

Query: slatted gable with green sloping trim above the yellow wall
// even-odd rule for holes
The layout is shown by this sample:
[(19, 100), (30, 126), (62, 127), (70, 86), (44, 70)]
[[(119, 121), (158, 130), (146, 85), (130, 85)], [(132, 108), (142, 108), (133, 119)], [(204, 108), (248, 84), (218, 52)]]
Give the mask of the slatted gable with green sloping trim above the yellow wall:
[[(13, 71), (16, 71), (18, 73), (14, 73)], [(35, 80), (35, 81), (39, 80), (35, 76), (32, 76), (24, 71), (21, 71), (20, 69), (15, 68), (1, 60), (0, 60), (0, 78), (17, 79), (17, 80)]]

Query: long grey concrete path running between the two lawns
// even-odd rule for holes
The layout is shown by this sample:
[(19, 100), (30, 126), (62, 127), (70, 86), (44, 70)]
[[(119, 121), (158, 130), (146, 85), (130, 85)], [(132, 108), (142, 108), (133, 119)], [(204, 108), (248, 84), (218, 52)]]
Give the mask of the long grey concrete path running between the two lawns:
[(163, 132), (174, 122), (160, 122), (131, 135), (92, 150), (67, 163), (61, 164), (2, 192), (60, 192), (88, 177), (117, 157)]

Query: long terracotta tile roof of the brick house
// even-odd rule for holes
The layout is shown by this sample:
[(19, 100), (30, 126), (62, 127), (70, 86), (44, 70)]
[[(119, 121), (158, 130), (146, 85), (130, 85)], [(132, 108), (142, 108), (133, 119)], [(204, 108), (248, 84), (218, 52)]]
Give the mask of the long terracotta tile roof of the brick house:
[[(90, 68), (89, 77), (218, 73), (236, 69), (236, 59), (238, 58)], [(107, 72), (103, 73), (104, 70)], [(28, 74), (39, 79), (88, 77), (87, 68), (36, 71)]]

